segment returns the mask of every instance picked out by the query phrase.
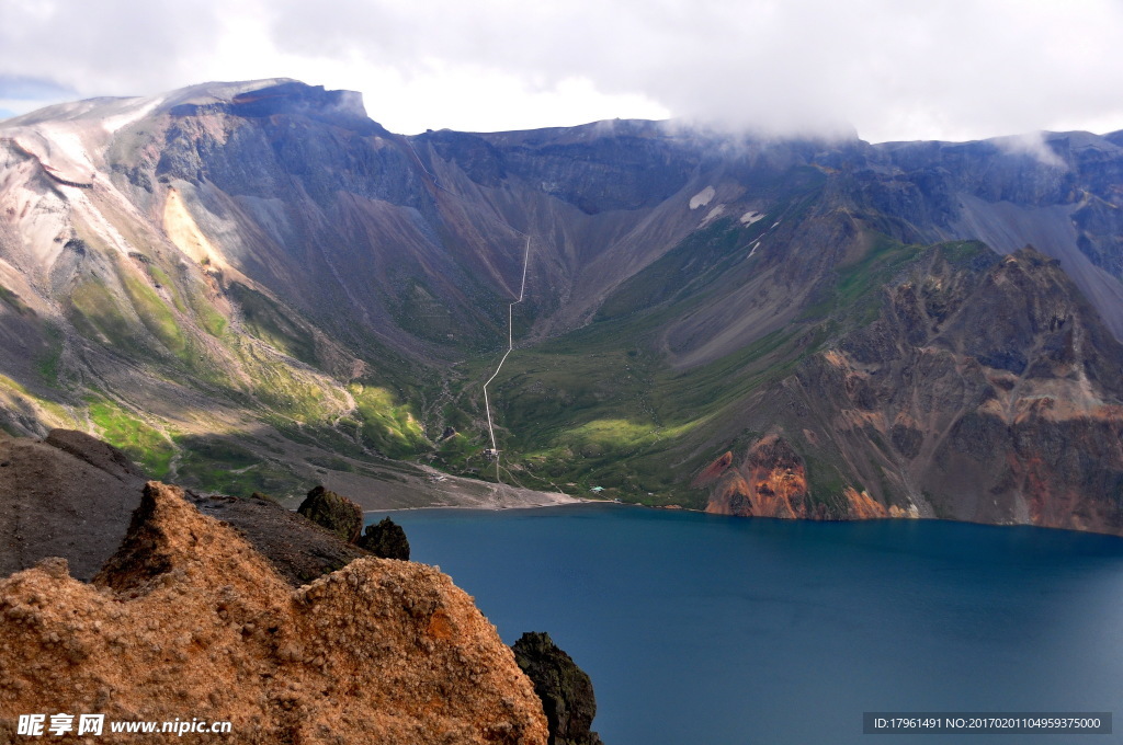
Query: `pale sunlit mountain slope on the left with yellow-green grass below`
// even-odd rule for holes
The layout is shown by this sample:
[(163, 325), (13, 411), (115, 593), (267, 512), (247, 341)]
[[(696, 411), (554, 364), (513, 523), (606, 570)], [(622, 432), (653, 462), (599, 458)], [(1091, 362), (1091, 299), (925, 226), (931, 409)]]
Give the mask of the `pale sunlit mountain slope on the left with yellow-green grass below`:
[[(167, 123), (135, 109), (128, 137)], [(192, 199), (119, 177), (111, 118), (69, 113), (6, 132), (6, 430), (89, 430), (154, 477), (234, 493), (289, 493), (325, 462), (384, 480), (384, 457), (428, 447), (413, 368), (332, 340), (239, 269), (239, 237), (200, 227)]]

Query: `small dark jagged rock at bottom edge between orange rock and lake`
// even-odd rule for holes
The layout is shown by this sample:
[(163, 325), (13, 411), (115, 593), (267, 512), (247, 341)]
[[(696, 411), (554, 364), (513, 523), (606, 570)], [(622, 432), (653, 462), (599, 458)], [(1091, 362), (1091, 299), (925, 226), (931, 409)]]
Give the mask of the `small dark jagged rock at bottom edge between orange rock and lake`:
[(549, 727), (549, 745), (603, 745), (592, 732), (593, 682), (550, 635), (527, 632), (512, 646), (514, 660), (535, 684)]

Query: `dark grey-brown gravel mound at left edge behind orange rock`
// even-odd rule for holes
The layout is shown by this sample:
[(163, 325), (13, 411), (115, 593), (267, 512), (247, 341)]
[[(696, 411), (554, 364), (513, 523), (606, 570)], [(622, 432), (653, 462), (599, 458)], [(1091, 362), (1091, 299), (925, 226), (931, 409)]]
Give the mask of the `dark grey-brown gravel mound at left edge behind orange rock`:
[(125, 537), (144, 482), (125, 453), (82, 432), (0, 432), (0, 576), (66, 557), (90, 580)]

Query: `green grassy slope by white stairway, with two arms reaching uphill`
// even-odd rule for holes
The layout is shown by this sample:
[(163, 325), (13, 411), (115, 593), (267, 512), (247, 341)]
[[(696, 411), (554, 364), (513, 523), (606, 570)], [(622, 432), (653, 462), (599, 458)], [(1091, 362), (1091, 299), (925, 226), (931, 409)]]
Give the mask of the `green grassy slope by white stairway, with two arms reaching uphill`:
[[(710, 292), (707, 279), (720, 275), (730, 247), (742, 246), (746, 233), (730, 222), (695, 233), (626, 283), (594, 323), (517, 349), (493, 394), (503, 472), (480, 457), (485, 432), (475, 433), (475, 448), (467, 444), (473, 433), (465, 432), (469, 436), (442, 449), (438, 462), (528, 487), (575, 494), (602, 487), (602, 496), (626, 502), (702, 506), (704, 495), (690, 488), (691, 477), (715, 452), (759, 436), (743, 423), (749, 410), (766, 404), (764, 392), (807, 356), (871, 322), (882, 287), (930, 251), (988, 250), (970, 242), (910, 246), (870, 234), (865, 254), (837, 267), (795, 323), (712, 362), (673, 369), (657, 351), (660, 329)], [(486, 377), (487, 369), (477, 361), (468, 377)], [(460, 401), (471, 394), (466, 389)], [(843, 462), (801, 444), (816, 494), (829, 499), (856, 482)]]

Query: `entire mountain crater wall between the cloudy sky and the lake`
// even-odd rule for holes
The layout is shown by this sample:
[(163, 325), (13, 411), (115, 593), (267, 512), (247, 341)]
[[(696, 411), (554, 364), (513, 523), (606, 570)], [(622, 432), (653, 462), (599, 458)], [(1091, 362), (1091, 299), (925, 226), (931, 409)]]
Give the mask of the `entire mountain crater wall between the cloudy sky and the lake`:
[(1123, 532), (1120, 132), (403, 137), (275, 80), (11, 119), (0, 168), (12, 433), (232, 493)]

